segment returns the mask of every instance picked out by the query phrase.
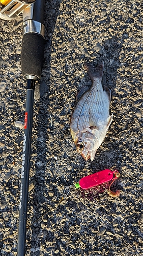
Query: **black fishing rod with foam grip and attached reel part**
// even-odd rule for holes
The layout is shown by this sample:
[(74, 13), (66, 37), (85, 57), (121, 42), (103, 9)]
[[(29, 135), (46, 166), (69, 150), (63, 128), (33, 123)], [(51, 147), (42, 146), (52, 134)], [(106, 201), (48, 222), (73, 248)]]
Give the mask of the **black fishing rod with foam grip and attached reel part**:
[[(21, 70), (26, 79), (26, 107), (24, 117), (23, 155), (20, 184), (19, 227), (17, 256), (25, 255), (28, 185), (33, 125), (34, 90), (40, 79), (44, 56), (45, 0), (0, 0), (0, 18), (11, 20), (23, 13)], [(32, 4), (31, 4), (32, 3)]]

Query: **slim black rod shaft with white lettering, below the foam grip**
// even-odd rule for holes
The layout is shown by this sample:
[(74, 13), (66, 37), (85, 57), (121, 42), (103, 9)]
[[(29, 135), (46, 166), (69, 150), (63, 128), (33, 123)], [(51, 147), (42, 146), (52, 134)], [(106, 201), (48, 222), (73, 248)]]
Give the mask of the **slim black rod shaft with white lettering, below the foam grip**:
[(30, 175), (31, 139), (33, 124), (35, 80), (27, 79), (26, 108), (24, 119), (23, 155), (20, 184), (19, 228), (17, 256), (25, 255), (28, 185)]

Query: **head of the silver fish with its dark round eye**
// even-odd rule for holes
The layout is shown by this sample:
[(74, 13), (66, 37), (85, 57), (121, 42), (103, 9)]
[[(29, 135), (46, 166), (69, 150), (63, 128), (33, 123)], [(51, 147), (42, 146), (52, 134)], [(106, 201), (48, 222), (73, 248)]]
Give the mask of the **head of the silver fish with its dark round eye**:
[(82, 136), (82, 138), (78, 138), (76, 148), (78, 153), (86, 160), (88, 161), (91, 159), (91, 161), (94, 160), (96, 151), (98, 149), (98, 141), (95, 138), (87, 138), (85, 136)]

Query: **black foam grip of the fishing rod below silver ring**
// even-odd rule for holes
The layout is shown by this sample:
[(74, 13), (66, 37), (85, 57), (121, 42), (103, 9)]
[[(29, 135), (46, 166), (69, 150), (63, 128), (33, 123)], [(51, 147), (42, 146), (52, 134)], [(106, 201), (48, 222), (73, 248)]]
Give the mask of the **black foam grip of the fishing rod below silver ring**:
[(26, 33), (22, 39), (21, 70), (28, 75), (40, 78), (44, 58), (44, 38), (37, 33)]

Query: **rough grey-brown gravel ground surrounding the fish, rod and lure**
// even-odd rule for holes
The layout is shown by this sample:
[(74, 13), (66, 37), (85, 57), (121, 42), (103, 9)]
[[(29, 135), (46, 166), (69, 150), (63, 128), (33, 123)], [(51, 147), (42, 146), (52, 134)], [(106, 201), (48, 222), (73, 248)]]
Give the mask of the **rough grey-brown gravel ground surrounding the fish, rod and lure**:
[[(134, 0), (46, 1), (44, 66), (34, 100), (27, 256), (143, 253), (142, 13), (141, 1)], [(9, 238), (0, 242), (0, 254), (7, 256), (17, 253), (26, 97), (21, 25), (22, 15), (1, 20), (0, 240)], [(85, 162), (72, 141), (70, 116), (78, 89), (91, 85), (84, 61), (96, 65), (101, 60), (113, 122), (95, 160)], [(121, 190), (119, 198), (74, 188), (80, 178), (105, 168), (121, 174), (112, 188)], [(70, 193), (59, 203), (65, 187)]]

